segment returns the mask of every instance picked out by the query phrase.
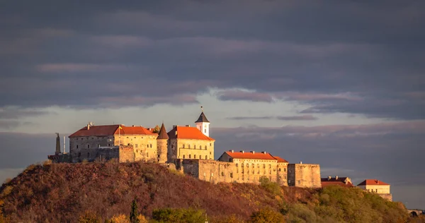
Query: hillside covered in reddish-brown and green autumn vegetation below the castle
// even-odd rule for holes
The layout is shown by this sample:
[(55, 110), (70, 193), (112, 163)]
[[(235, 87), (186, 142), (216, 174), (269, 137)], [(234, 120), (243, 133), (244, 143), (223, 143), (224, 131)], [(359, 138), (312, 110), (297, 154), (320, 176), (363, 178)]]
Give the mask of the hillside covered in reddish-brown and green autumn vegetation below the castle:
[(408, 220), (402, 204), (358, 188), (212, 184), (140, 162), (31, 165), (1, 186), (0, 208), (0, 222), (128, 222), (135, 211), (145, 222), (203, 222), (205, 213), (210, 222)]

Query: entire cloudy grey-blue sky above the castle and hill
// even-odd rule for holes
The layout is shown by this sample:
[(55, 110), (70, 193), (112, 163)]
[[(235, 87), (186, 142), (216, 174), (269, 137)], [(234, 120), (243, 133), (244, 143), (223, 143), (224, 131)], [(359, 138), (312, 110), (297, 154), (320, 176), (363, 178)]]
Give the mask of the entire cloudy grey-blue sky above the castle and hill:
[(379, 179), (425, 209), (425, 1), (2, 1), (0, 181), (89, 121)]

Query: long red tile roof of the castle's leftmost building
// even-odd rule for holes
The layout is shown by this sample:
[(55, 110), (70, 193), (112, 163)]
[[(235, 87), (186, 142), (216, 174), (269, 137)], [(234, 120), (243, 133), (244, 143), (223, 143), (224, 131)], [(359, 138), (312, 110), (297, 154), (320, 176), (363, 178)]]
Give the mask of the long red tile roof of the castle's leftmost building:
[(152, 133), (142, 126), (121, 126), (121, 128), (122, 129), (118, 131), (118, 125), (90, 126), (89, 129), (85, 126), (79, 131), (72, 133), (72, 135), (69, 135), (69, 138), (81, 136), (118, 135), (118, 132), (122, 135), (157, 135), (157, 133)]

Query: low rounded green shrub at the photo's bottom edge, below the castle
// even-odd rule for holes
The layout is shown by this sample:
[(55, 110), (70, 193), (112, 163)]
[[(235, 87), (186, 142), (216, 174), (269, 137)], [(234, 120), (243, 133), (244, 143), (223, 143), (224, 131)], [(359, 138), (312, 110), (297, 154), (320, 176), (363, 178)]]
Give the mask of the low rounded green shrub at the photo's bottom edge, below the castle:
[(152, 212), (152, 218), (157, 222), (188, 222), (203, 223), (206, 220), (204, 210), (163, 208)]

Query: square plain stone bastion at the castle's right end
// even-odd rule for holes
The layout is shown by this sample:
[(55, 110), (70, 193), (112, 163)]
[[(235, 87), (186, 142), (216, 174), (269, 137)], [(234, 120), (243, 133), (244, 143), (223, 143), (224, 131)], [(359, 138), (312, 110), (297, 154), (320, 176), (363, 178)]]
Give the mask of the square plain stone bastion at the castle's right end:
[(288, 186), (322, 187), (319, 164), (288, 164)]

